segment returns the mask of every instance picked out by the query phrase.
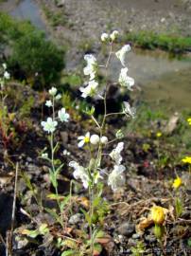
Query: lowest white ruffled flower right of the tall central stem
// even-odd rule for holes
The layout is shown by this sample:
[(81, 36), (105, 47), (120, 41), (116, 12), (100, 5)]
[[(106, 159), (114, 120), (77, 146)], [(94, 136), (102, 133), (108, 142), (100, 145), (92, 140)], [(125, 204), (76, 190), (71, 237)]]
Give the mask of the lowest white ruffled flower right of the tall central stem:
[(108, 177), (108, 185), (112, 186), (113, 191), (124, 186), (125, 179), (122, 174), (125, 170), (126, 168), (124, 165), (114, 165), (113, 172), (109, 174)]

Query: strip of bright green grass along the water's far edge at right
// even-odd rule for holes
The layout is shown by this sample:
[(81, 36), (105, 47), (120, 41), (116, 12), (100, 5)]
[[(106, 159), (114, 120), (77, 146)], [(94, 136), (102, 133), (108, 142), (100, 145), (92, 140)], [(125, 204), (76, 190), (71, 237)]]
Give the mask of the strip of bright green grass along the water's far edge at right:
[(152, 31), (130, 32), (125, 35), (124, 40), (148, 49), (160, 48), (173, 53), (191, 51), (191, 37), (174, 34), (157, 34)]

